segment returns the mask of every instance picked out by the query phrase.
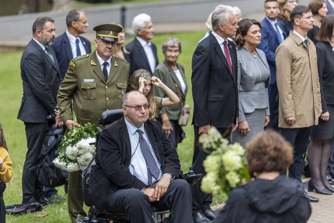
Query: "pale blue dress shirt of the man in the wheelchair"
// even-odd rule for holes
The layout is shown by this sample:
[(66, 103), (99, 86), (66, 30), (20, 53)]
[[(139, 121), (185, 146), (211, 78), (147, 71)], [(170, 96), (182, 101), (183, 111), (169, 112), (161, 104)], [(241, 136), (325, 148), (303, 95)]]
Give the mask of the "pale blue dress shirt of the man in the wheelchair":
[(144, 128), (144, 123), (137, 128), (136, 126), (132, 125), (126, 118), (124, 118), (126, 126), (128, 128), (129, 137), (130, 137), (130, 144), (131, 144), (131, 161), (129, 165), (129, 170), (132, 175), (137, 177), (139, 180), (144, 182), (144, 184), (148, 185), (148, 176), (147, 176), (147, 167), (146, 167), (146, 161), (143, 155), (143, 152), (140, 148), (139, 143), (139, 133), (136, 132), (137, 129), (140, 129), (143, 131), (144, 139), (147, 141), (148, 146), (150, 147), (151, 153), (154, 157), (155, 162), (158, 165), (160, 174), (159, 178), (156, 179), (154, 176), (152, 176), (152, 182), (154, 183), (157, 180), (160, 180), (162, 177), (162, 170), (161, 170), (161, 163), (159, 162), (157, 156), (154, 153), (154, 150), (152, 148), (150, 139), (148, 138), (148, 135), (146, 133), (146, 130)]

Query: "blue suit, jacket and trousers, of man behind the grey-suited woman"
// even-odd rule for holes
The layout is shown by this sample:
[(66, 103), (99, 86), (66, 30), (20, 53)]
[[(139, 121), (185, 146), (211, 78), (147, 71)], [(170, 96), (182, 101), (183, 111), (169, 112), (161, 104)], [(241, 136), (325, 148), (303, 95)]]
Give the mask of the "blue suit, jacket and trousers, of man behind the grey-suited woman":
[[(280, 26), (280, 24), (278, 24)], [(267, 18), (261, 21), (262, 26), (262, 37), (261, 44), (257, 48), (262, 49), (265, 54), (269, 64), (270, 69), (270, 86), (268, 89), (269, 94), (269, 108), (270, 108), (270, 122), (268, 128), (274, 128), (278, 130), (278, 90), (276, 84), (276, 63), (275, 63), (275, 51), (280, 45), (276, 30), (270, 24)], [(287, 38), (287, 33), (280, 26), (283, 31), (284, 39)], [(282, 39), (282, 40), (284, 40)]]

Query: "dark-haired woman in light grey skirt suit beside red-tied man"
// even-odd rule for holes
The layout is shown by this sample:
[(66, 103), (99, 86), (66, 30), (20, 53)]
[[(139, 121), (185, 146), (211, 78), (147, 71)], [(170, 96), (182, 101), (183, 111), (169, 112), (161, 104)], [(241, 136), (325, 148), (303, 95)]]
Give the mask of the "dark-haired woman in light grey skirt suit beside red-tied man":
[(261, 24), (254, 19), (242, 19), (238, 26), (234, 42), (238, 58), (239, 118), (238, 131), (232, 132), (231, 139), (245, 147), (270, 121), (270, 70), (265, 53), (255, 48), (261, 43)]

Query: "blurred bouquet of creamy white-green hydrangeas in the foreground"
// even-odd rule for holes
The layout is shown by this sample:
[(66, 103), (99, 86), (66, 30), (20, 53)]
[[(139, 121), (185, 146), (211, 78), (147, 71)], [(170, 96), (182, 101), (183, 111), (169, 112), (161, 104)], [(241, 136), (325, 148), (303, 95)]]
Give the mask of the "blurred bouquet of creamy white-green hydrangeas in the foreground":
[(214, 127), (207, 134), (202, 134), (198, 141), (204, 151), (212, 151), (203, 162), (206, 172), (201, 183), (203, 192), (224, 192), (228, 195), (233, 188), (241, 185), (241, 180), (251, 181), (245, 168), (245, 150), (240, 143), (228, 144), (228, 140)]

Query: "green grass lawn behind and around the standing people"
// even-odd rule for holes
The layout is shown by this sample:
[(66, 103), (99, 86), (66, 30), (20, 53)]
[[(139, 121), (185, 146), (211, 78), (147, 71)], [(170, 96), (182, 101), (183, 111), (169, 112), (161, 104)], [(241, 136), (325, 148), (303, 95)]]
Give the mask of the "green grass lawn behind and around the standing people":
[[(153, 42), (158, 48), (158, 57), (161, 62), (164, 59), (162, 54), (162, 42), (168, 37), (177, 37), (182, 43), (182, 53), (178, 62), (184, 65), (187, 83), (189, 86), (186, 103), (193, 108), (193, 100), (191, 94), (191, 58), (198, 40), (202, 38), (205, 31), (191, 32), (191, 33), (171, 33), (155, 35)], [(128, 39), (131, 41), (131, 39)], [(94, 47), (94, 45), (93, 45)], [(27, 144), (25, 138), (24, 124), (22, 121), (16, 119), (18, 109), (22, 98), (22, 80), (20, 76), (20, 60), (22, 51), (0, 54), (0, 119), (4, 126), (4, 133), (9, 147), (9, 154), (13, 162), (14, 176), (10, 181), (10, 186), (4, 192), (5, 205), (20, 204), (22, 201), (22, 168), (27, 151)], [(191, 117), (190, 117), (191, 118)], [(188, 168), (192, 162), (194, 132), (190, 125), (184, 127), (186, 138), (178, 146), (178, 154), (181, 160), (181, 166), (184, 172), (188, 172)], [(58, 194), (66, 197), (64, 188), (57, 187)], [(219, 204), (226, 200), (225, 195), (214, 196), (214, 204)], [(88, 208), (86, 207), (88, 211)], [(70, 222), (67, 203), (48, 205), (43, 208), (43, 211), (48, 212), (48, 216), (43, 218), (36, 218), (35, 214), (24, 214), (16, 217), (7, 215), (7, 223), (26, 223), (26, 222)]]

